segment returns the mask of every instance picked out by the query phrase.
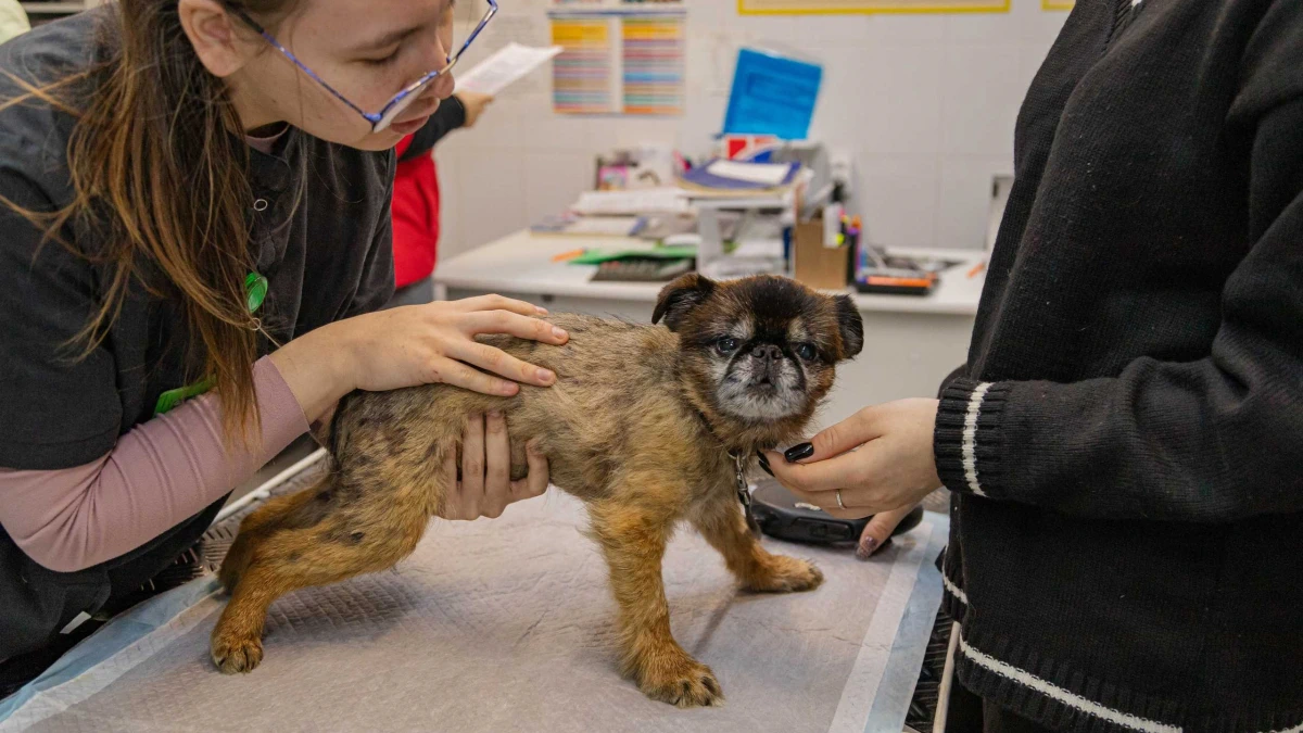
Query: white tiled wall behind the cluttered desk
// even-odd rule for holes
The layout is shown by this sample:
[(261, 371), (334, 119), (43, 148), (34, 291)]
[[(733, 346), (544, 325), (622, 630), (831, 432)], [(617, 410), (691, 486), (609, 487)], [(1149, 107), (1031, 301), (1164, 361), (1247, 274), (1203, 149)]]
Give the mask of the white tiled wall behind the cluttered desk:
[[(494, 38), (490, 26), (465, 68), (515, 37), (546, 38), (546, 8), (503, 3), (511, 38)], [(688, 0), (684, 116), (555, 115), (539, 72), (504, 93), (476, 129), (440, 145), (442, 253), (559, 211), (590, 185), (593, 157), (612, 146), (706, 150), (744, 44), (780, 44), (823, 63), (812, 137), (855, 160), (853, 205), (874, 243), (979, 248), (990, 177), (1012, 170), (1018, 106), (1065, 18), (1040, 0), (1012, 0), (995, 14), (805, 17), (740, 17), (735, 0)]]

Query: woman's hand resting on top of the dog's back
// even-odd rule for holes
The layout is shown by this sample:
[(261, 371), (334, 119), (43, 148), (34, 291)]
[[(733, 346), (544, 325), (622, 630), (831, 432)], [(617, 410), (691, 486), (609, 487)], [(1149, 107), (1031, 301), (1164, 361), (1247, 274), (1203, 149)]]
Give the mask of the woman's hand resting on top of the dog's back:
[(478, 343), (476, 337), (509, 334), (564, 344), (569, 340), (564, 330), (534, 317), (546, 313), (499, 295), (408, 305), (330, 323), (289, 342), (271, 359), (309, 423), (354, 389), (444, 382), (511, 396), (520, 391), (516, 382), (550, 386), (556, 374)]

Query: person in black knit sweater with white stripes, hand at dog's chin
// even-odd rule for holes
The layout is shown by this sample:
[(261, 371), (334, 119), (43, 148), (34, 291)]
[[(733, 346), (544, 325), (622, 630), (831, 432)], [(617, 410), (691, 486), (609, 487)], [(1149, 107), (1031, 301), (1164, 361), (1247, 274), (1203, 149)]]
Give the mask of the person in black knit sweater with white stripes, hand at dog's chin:
[(1303, 3), (1078, 0), (1015, 171), (941, 399), (770, 466), (952, 492), (967, 729), (1303, 730)]

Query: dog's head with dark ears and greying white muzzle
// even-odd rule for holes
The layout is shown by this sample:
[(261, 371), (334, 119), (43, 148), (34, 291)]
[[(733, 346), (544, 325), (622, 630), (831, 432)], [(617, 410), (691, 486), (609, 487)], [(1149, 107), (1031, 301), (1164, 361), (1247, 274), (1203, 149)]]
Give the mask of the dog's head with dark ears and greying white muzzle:
[(680, 365), (702, 407), (745, 425), (805, 420), (835, 364), (864, 347), (850, 296), (758, 275), (717, 283), (683, 275), (661, 291), (652, 322), (679, 334)]

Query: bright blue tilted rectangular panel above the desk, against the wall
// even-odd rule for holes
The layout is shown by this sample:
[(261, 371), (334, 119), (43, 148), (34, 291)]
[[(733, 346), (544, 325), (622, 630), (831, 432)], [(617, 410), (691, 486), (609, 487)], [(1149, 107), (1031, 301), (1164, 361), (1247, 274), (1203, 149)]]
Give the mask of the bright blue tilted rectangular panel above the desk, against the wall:
[(823, 68), (753, 48), (737, 51), (724, 134), (774, 134), (805, 140)]

